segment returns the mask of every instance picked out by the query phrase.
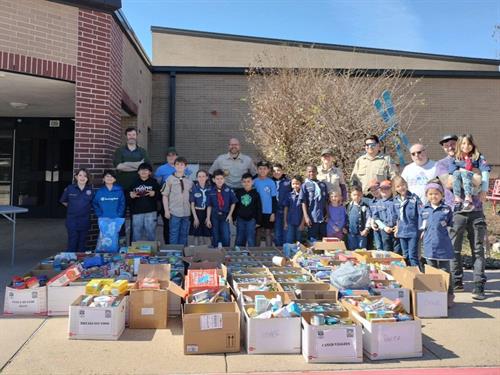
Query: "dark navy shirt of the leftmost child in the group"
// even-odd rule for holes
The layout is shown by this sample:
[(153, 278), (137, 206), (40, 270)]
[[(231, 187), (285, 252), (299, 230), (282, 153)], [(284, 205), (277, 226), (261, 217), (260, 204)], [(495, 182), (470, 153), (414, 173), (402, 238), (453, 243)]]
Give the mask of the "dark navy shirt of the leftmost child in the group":
[(68, 204), (68, 221), (78, 220), (86, 228), (90, 225), (92, 199), (94, 199), (94, 193), (90, 185), (85, 185), (83, 190), (80, 190), (77, 184), (72, 184), (64, 189), (59, 202)]

